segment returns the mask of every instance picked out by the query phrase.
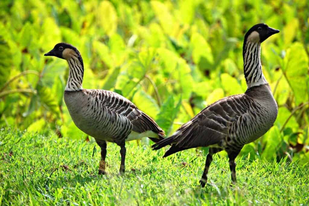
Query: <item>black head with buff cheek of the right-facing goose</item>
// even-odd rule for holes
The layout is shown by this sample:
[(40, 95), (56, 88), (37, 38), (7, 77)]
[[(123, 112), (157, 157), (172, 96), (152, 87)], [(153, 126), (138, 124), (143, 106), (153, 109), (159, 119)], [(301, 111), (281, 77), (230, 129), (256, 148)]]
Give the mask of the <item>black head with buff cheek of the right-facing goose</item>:
[(279, 30), (270, 28), (266, 24), (256, 24), (251, 27), (245, 35), (246, 42), (264, 42), (273, 34), (279, 33)]

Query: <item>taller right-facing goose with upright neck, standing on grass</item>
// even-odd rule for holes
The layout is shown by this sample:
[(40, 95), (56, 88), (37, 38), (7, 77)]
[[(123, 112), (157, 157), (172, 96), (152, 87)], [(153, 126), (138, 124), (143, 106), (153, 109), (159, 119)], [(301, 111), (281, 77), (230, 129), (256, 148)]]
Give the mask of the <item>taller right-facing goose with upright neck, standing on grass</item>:
[(218, 100), (182, 125), (169, 138), (152, 147), (158, 150), (171, 144), (163, 157), (194, 147), (208, 147), (205, 169), (200, 180), (207, 182), (213, 154), (225, 150), (229, 157), (232, 183), (236, 183), (235, 158), (245, 144), (253, 142), (273, 125), (278, 106), (273, 98), (260, 62), (260, 44), (279, 30), (256, 24), (245, 34), (243, 71), (248, 89), (244, 94)]

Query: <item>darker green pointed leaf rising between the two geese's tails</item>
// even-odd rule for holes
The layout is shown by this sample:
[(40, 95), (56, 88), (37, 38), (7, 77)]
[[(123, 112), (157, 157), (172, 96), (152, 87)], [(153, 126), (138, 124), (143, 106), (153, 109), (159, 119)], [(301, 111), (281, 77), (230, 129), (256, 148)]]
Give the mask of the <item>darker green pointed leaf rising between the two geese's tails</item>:
[(181, 97), (179, 98), (178, 103), (175, 107), (175, 100), (171, 95), (163, 103), (162, 107), (160, 108), (160, 113), (157, 115), (156, 122), (165, 131), (165, 134), (167, 136), (171, 132), (171, 128), (179, 111), (180, 105)]

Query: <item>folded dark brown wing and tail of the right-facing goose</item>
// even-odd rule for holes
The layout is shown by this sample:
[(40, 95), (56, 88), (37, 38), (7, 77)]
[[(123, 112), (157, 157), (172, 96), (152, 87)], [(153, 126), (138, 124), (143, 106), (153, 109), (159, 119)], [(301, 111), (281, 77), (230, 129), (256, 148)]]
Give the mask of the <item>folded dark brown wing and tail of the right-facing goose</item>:
[(171, 137), (153, 145), (153, 148), (156, 150), (173, 144), (170, 153), (167, 151), (170, 155), (187, 148), (218, 144), (231, 133), (237, 133), (234, 129), (237, 130), (239, 118), (247, 114), (251, 104), (252, 100), (246, 94), (220, 99), (182, 125)]

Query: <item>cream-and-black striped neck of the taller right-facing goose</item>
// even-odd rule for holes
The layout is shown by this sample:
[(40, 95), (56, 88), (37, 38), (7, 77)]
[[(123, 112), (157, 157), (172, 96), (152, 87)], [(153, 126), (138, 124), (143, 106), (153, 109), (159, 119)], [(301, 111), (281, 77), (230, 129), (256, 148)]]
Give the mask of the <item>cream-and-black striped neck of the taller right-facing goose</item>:
[(248, 89), (253, 86), (268, 84), (260, 60), (261, 43), (245, 41), (243, 47), (243, 73)]

